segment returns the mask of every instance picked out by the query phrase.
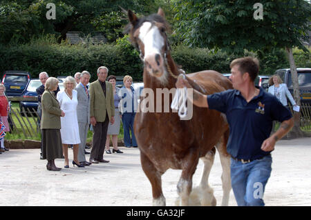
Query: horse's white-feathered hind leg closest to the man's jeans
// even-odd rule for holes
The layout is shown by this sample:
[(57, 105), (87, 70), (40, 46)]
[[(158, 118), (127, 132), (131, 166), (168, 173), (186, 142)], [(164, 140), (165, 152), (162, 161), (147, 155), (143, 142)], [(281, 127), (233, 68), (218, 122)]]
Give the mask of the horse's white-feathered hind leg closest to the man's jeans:
[(223, 139), (217, 144), (216, 148), (220, 155), (220, 163), (223, 168), (221, 180), (223, 181), (223, 200), (221, 206), (228, 206), (229, 194), (231, 190), (230, 177), (230, 155), (227, 153), (227, 140), (229, 137), (229, 130), (224, 134)]

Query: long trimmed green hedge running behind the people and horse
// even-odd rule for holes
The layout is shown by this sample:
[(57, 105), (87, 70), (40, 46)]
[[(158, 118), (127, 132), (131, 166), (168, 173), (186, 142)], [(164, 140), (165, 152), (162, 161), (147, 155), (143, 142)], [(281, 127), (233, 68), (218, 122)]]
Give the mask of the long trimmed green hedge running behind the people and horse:
[[(253, 54), (254, 53), (245, 53)], [(256, 55), (256, 54), (255, 54)], [(187, 73), (200, 70), (229, 72), (229, 63), (234, 55), (214, 52), (202, 48), (189, 49), (185, 46), (172, 48), (172, 57)], [(278, 68), (288, 68), (289, 63), (283, 50), (269, 54), (258, 54), (261, 61), (261, 74), (273, 74)], [(311, 67), (310, 53), (294, 50), (297, 67)], [(109, 74), (124, 76), (130, 74), (134, 81), (142, 81), (143, 64), (138, 52), (131, 46), (128, 37), (117, 40), (115, 44), (92, 45), (91, 43), (72, 46), (66, 42), (57, 44), (55, 39), (32, 40), (25, 45), (0, 45), (0, 71), (27, 70), (32, 77), (46, 71), (50, 76), (71, 75), (88, 70), (91, 81), (97, 79), (99, 66), (107, 66)]]

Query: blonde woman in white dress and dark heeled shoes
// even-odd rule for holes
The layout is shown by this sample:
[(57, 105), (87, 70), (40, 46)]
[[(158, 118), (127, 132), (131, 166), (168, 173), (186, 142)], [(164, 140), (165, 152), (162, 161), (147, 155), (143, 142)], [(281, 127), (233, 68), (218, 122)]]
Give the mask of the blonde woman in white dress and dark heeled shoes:
[(64, 91), (57, 93), (57, 100), (60, 108), (65, 112), (65, 117), (61, 118), (62, 128), (60, 130), (65, 157), (65, 168), (69, 168), (68, 146), (73, 145), (73, 166), (82, 168), (77, 155), (79, 152), (79, 126), (77, 122), (77, 91), (73, 90), (76, 86), (75, 78), (66, 77), (64, 81)]

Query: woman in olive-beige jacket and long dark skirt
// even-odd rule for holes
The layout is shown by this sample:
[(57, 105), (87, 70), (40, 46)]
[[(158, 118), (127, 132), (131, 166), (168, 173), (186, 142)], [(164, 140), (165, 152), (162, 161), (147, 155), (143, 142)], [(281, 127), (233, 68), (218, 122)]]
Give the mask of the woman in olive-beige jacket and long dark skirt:
[(53, 92), (57, 90), (58, 82), (58, 79), (49, 77), (41, 97), (42, 157), (48, 160), (46, 168), (52, 171), (62, 170), (55, 166), (54, 161), (57, 158), (62, 158), (63, 155), (60, 117), (64, 117), (65, 113), (60, 109)]

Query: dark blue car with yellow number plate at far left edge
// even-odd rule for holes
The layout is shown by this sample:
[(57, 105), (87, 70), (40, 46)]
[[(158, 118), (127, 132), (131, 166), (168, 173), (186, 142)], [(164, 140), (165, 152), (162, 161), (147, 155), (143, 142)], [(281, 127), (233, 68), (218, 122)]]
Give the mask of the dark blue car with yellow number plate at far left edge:
[(30, 73), (26, 71), (5, 71), (2, 78), (2, 84), (6, 86), (8, 97), (20, 97), (26, 90), (30, 81)]

